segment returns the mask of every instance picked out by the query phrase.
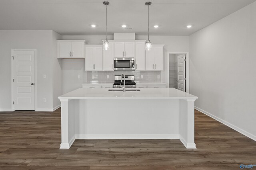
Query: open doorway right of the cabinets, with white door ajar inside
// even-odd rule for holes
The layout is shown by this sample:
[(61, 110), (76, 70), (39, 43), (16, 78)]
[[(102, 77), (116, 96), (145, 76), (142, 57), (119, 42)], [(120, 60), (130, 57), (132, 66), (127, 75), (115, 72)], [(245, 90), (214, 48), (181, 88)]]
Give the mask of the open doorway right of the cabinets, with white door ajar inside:
[(168, 85), (183, 92), (188, 88), (188, 52), (168, 53)]

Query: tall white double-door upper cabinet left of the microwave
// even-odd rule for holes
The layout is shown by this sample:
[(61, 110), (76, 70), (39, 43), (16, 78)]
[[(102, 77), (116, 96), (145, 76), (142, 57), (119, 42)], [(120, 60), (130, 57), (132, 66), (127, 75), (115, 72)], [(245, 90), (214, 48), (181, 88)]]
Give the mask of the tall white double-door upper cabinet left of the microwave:
[(85, 70), (103, 70), (103, 48), (102, 45), (85, 45)]

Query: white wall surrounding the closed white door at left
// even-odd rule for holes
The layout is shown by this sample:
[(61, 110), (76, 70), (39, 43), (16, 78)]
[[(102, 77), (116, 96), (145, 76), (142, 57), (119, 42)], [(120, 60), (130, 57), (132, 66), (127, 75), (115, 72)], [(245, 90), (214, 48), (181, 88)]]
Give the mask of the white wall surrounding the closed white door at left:
[(0, 37), (0, 109), (12, 108), (11, 49), (37, 49), (37, 108), (52, 108), (52, 30), (1, 30)]

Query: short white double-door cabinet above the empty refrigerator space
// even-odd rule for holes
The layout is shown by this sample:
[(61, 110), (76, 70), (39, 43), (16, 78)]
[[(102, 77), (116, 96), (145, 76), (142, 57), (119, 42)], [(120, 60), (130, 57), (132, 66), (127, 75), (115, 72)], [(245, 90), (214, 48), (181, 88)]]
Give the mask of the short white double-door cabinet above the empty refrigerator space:
[(58, 40), (58, 59), (84, 59), (85, 40)]

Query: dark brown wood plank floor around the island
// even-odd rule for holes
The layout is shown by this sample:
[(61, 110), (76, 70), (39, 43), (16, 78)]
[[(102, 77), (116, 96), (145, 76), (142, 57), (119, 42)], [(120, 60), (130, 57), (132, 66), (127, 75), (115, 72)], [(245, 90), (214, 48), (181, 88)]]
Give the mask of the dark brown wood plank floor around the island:
[(60, 137), (60, 109), (0, 112), (0, 169), (235, 170), (256, 164), (255, 141), (199, 111), (197, 149), (176, 139), (76, 140), (59, 149)]

